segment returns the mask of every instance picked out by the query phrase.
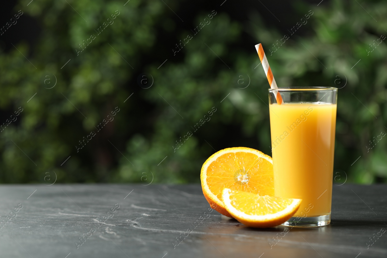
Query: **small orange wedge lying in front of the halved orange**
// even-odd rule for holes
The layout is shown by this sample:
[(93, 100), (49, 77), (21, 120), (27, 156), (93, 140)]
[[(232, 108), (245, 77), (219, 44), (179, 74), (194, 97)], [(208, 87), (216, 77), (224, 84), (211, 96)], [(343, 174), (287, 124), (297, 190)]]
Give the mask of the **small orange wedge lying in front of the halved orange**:
[(296, 213), (301, 199), (260, 196), (254, 193), (223, 189), (223, 203), (229, 214), (249, 227), (281, 225)]

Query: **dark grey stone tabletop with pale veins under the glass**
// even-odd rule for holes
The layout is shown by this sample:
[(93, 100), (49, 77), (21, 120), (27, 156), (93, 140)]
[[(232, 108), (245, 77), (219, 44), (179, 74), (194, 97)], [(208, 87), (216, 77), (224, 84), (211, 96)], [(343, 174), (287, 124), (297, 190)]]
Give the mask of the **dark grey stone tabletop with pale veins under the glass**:
[(0, 196), (0, 257), (387, 257), (386, 185), (335, 186), (331, 224), (289, 232), (220, 215), (200, 185), (3, 185)]

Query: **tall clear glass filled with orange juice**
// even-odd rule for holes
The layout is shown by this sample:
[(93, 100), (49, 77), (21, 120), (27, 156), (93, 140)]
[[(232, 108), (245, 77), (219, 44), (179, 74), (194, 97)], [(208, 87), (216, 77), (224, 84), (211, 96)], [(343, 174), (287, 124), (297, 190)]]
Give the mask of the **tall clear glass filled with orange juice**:
[(274, 194), (302, 199), (283, 226), (330, 223), (336, 109), (334, 87), (269, 89)]

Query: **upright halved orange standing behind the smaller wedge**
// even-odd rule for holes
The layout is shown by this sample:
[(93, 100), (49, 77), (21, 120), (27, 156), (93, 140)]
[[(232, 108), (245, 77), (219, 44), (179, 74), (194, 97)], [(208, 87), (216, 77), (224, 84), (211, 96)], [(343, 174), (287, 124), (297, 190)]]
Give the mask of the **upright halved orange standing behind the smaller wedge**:
[(223, 188), (274, 195), (271, 157), (246, 147), (227, 148), (213, 154), (204, 162), (200, 180), (211, 207), (231, 218), (222, 201)]

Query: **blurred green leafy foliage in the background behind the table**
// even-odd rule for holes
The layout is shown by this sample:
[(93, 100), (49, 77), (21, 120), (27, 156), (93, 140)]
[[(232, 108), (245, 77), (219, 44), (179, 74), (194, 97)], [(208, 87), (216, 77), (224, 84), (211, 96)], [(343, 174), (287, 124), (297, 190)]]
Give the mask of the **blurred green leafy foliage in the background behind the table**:
[[(238, 47), (246, 31), (263, 44), (280, 87), (345, 85), (338, 95), (335, 171), (345, 171), (356, 183), (386, 181), (387, 139), (366, 147), (387, 132), (385, 40), (367, 53), (387, 35), (385, 2), (363, 3), (368, 13), (352, 1), (300, 5), (300, 18), (313, 12), (305, 25), (310, 33), (289, 34), (272, 55), (283, 33), (265, 25), (259, 14), (241, 24), (216, 10), (211, 24), (176, 56), (172, 48), (193, 33), (176, 28), (180, 20), (169, 7), (177, 10), (184, 2), (171, 1), (168, 7), (158, 0), (130, 0), (125, 6), (125, 1), (83, 0), (69, 1), (70, 6), (41, 0), (26, 8), (28, 2), (22, 0), (15, 10), (39, 22), (38, 43), (31, 48), (21, 42), (0, 53), (0, 109), (7, 117), (23, 108), (0, 133), (0, 182), (42, 183), (51, 171), (62, 183), (149, 183), (150, 171), (154, 183), (199, 182), (201, 165), (215, 150), (242, 145), (270, 155), (269, 85), (257, 67), (254, 44)], [(97, 35), (116, 10), (114, 23)], [(211, 11), (199, 14), (190, 27)], [(77, 56), (75, 50), (91, 34), (96, 39)], [(165, 43), (171, 34), (175, 39)], [(137, 84), (144, 72), (153, 79), (148, 89)], [(53, 75), (57, 84), (46, 89), (54, 85)], [(51, 84), (44, 84), (47, 78)], [(96, 132), (116, 106), (114, 121), (77, 152), (79, 140)], [(194, 132), (212, 107), (217, 111), (211, 120)], [(188, 131), (193, 135), (175, 149)]]

